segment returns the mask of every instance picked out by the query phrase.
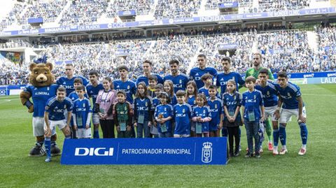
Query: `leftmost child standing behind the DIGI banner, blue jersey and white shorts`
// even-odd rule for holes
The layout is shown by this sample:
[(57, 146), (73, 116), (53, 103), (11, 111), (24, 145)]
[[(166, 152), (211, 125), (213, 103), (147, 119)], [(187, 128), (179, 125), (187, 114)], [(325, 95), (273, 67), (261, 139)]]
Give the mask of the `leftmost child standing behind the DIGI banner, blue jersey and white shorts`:
[(83, 85), (76, 86), (78, 99), (73, 101), (72, 120), (73, 129), (76, 131), (77, 138), (91, 138), (91, 116), (92, 108), (90, 100), (85, 95)]

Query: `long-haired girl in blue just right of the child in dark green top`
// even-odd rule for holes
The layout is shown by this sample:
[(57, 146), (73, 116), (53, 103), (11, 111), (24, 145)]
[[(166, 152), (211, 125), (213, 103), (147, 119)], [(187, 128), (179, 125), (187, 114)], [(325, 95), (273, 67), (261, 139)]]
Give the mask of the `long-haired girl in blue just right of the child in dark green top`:
[(137, 138), (150, 138), (152, 125), (152, 99), (148, 96), (145, 82), (139, 82), (134, 99), (134, 126), (137, 127)]

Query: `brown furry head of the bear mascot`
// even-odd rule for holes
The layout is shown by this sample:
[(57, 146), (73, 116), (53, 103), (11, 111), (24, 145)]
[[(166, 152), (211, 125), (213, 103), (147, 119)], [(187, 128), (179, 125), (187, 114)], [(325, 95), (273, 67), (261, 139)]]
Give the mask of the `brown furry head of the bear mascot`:
[(29, 75), (29, 82), (35, 87), (49, 86), (54, 83), (55, 76), (52, 75), (52, 64), (35, 64), (29, 66), (31, 74)]

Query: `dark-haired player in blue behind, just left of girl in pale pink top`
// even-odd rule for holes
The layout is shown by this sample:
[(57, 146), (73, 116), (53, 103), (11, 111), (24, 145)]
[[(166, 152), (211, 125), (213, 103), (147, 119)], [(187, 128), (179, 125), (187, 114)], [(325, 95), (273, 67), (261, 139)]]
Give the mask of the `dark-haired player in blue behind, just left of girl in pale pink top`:
[[(99, 74), (97, 71), (90, 71), (89, 73), (90, 84), (87, 85), (86, 91), (89, 97), (92, 97), (92, 103), (95, 104), (97, 100), (97, 95), (100, 90), (104, 90), (104, 87), (99, 83)], [(94, 105), (92, 106), (92, 111)], [(93, 124), (93, 138), (99, 138), (99, 115), (98, 113), (92, 113), (92, 124)]]

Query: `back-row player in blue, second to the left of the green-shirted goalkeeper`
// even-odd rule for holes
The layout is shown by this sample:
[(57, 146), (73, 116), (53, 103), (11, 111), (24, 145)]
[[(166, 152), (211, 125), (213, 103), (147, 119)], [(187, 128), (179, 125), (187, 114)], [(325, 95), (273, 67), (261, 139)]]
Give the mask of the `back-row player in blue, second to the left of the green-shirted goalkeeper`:
[(205, 73), (209, 73), (214, 76), (214, 79), (217, 77), (217, 71), (215, 68), (207, 67), (207, 57), (203, 54), (197, 56), (198, 67), (192, 68), (190, 70), (189, 78), (190, 80), (194, 80), (197, 85), (197, 89), (200, 89), (204, 86), (204, 82), (202, 82), (201, 77)]

